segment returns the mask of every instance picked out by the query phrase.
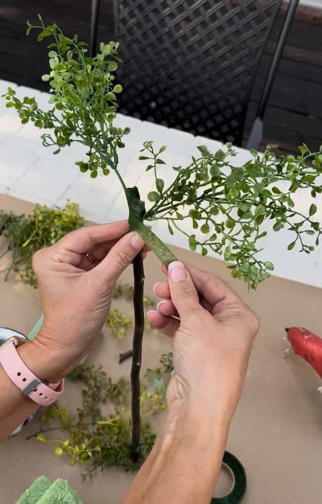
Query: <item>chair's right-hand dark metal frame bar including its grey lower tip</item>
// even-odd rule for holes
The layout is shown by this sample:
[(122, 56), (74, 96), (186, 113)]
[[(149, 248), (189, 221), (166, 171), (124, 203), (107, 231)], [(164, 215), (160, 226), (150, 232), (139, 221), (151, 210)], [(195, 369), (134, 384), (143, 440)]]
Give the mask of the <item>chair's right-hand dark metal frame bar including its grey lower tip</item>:
[(267, 76), (266, 84), (263, 90), (263, 94), (257, 109), (256, 119), (253, 124), (252, 132), (249, 136), (247, 148), (258, 150), (262, 138), (263, 138), (263, 117), (268, 105), (268, 101), (272, 92), (274, 81), (276, 78), (276, 72), (280, 64), (280, 60), (283, 54), (285, 43), (294, 19), (294, 15), (299, 4), (299, 0), (290, 0), (289, 7), (285, 16), (284, 24), (281, 30), (279, 40), (277, 42), (275, 54), (272, 60), (272, 64)]

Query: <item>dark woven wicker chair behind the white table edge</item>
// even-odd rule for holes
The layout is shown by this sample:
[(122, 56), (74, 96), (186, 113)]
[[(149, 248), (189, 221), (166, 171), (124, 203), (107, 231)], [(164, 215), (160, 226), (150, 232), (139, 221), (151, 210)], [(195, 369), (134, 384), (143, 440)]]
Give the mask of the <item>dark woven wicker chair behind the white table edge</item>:
[[(276, 48), (249, 147), (262, 119), (299, 0)], [(120, 112), (241, 145), (251, 91), (281, 0), (114, 0), (124, 83)], [(93, 0), (92, 47), (99, 0)], [(96, 16), (96, 21), (95, 21)]]

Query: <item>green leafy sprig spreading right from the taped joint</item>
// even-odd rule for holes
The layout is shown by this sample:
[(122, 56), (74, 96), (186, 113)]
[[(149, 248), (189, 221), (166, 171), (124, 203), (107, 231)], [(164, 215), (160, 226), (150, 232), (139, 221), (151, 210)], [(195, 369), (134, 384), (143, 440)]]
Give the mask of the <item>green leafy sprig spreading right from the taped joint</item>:
[[(154, 153), (153, 143), (145, 142), (143, 152), (147, 151), (153, 162), (146, 169), (154, 168), (158, 189), (148, 194), (154, 204), (146, 212), (146, 220), (167, 220), (172, 234), (176, 228), (187, 235), (191, 250), (206, 255), (211, 249), (223, 255), (225, 261), (234, 262), (228, 267), (232, 276), (244, 278), (251, 288), (274, 270), (271, 262), (258, 258), (260, 239), (267, 234), (261, 229), (264, 221), (270, 220), (274, 231), (286, 228), (294, 233), (289, 250), (298, 242), (304, 253), (313, 251), (314, 246), (305, 242), (306, 235), (315, 234), (315, 245), (319, 244), (322, 228), (314, 219), (316, 206), (310, 206), (308, 216), (302, 214), (294, 208), (292, 195), (303, 188), (310, 190), (312, 198), (321, 193), (322, 146), (319, 152), (311, 153), (303, 145), (296, 158), (277, 157), (267, 147), (262, 156), (252, 151), (253, 159), (243, 166), (233, 164), (231, 144), (215, 153), (205, 146), (198, 149), (201, 157), (192, 158), (187, 167), (173, 167), (177, 176), (164, 188), (164, 184), (159, 185), (155, 162), (160, 150)], [(140, 156), (143, 160), (146, 157)], [(282, 191), (276, 184), (285, 181), (288, 187)], [(181, 228), (184, 219), (207, 236), (198, 239), (195, 233), (186, 233)]]

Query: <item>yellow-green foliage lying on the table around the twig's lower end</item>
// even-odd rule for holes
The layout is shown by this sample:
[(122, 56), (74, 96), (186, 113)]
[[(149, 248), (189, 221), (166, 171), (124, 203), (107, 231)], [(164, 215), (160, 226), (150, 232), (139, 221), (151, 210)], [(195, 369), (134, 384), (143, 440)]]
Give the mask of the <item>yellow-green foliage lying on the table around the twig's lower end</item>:
[[(171, 359), (169, 356), (166, 355), (166, 362)], [(58, 404), (48, 406), (40, 418), (42, 429), (33, 436), (51, 445), (55, 455), (67, 455), (69, 465), (84, 464), (84, 477), (108, 466), (139, 467), (155, 442), (155, 430), (145, 419), (166, 408), (169, 380), (166, 373), (169, 371), (164, 358), (160, 359), (160, 367), (147, 370), (142, 384), (140, 458), (137, 463), (131, 459), (130, 383), (124, 377), (114, 383), (102, 366), (80, 364), (76, 367), (71, 378), (84, 384), (82, 405), (75, 412)], [(102, 415), (101, 407), (108, 402), (115, 405), (115, 411), (106, 417)], [(62, 437), (48, 438), (46, 432), (52, 430), (61, 431)]]

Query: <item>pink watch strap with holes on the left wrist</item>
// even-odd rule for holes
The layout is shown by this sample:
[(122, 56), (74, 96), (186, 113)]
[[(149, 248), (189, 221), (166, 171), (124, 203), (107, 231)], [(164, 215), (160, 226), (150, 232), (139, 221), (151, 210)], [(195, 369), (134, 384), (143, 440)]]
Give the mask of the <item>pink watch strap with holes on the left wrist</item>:
[(39, 380), (21, 359), (14, 340), (8, 340), (0, 348), (0, 363), (22, 394), (41, 406), (52, 404), (64, 390), (63, 380), (48, 385)]

